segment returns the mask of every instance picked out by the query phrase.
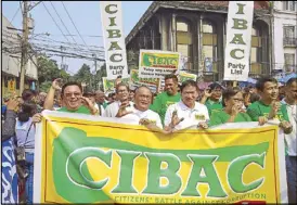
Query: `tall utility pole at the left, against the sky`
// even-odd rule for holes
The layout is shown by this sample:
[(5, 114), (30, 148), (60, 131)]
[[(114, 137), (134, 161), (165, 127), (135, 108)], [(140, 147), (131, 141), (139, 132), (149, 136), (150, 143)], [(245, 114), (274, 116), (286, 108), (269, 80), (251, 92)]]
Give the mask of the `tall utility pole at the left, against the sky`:
[(22, 38), (22, 60), (21, 60), (21, 79), (20, 79), (20, 95), (25, 88), (25, 75), (28, 62), (28, 12), (29, 12), (29, 1), (23, 1), (24, 12), (23, 12), (23, 38)]

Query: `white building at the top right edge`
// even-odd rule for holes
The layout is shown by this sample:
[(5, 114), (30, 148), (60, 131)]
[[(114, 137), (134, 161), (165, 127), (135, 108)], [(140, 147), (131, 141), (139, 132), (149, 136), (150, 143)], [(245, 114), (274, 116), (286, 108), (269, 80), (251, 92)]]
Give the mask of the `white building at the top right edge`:
[(273, 2), (275, 69), (297, 73), (297, 1)]

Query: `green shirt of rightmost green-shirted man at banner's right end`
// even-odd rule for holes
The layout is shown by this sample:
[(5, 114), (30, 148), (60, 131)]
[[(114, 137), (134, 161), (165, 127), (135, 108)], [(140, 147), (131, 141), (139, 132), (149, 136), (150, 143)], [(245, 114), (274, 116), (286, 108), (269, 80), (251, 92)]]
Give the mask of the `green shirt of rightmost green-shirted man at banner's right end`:
[[(261, 101), (256, 101), (250, 104), (247, 108), (247, 114), (250, 116), (253, 121), (258, 121), (260, 116), (268, 117), (271, 111), (271, 105), (266, 105)], [(276, 113), (275, 118), (280, 121), (288, 121), (288, 115), (286, 105), (282, 104), (280, 111)]]

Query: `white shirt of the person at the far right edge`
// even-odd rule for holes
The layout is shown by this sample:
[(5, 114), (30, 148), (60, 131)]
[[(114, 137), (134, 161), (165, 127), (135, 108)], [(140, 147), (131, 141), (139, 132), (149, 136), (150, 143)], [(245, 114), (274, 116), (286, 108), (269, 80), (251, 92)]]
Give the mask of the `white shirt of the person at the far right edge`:
[(288, 155), (297, 156), (297, 105), (289, 105), (284, 100), (282, 101), (282, 103), (286, 104), (288, 119), (290, 125), (293, 126), (293, 131), (289, 134), (285, 134)]

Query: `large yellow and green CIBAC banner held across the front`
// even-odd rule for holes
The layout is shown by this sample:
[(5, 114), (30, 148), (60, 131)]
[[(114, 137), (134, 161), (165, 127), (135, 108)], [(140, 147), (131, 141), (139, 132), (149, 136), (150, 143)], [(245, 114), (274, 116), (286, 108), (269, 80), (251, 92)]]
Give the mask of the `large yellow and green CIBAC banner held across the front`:
[(286, 198), (276, 126), (250, 128), (254, 124), (247, 123), (241, 129), (165, 136), (102, 120), (43, 112), (36, 138), (36, 203), (264, 204)]

